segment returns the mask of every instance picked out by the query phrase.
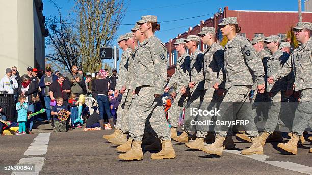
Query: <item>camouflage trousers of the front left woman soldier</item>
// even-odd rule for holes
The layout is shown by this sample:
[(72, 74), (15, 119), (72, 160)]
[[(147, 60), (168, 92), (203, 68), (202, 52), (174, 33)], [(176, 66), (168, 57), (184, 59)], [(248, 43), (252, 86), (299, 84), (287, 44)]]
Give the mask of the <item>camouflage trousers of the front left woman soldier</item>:
[(136, 141), (143, 138), (146, 122), (149, 121), (151, 128), (161, 140), (170, 140), (170, 128), (167, 122), (162, 97), (149, 95), (152, 88), (141, 88), (132, 101), (129, 112), (130, 136)]

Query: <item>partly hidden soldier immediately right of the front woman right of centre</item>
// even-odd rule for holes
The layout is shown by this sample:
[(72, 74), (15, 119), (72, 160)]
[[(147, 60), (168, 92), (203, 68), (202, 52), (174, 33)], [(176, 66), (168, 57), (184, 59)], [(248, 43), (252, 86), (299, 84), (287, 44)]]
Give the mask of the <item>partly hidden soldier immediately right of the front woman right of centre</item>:
[[(268, 57), (270, 56), (270, 53), (267, 52), (264, 49), (264, 40), (267, 37), (265, 36), (257, 36), (252, 38), (251, 44), (253, 48), (256, 50), (258, 56), (262, 60), (263, 66), (265, 73), (266, 71), (266, 62)], [(266, 77), (265, 77), (266, 79)], [(253, 81), (255, 80), (255, 77), (253, 76)], [(254, 81), (255, 82), (255, 81)], [(266, 82), (266, 81), (265, 81)], [(263, 118), (267, 119), (268, 118), (268, 108), (265, 106), (266, 102), (268, 102), (270, 99), (268, 99), (268, 95), (266, 92), (264, 93), (258, 93), (256, 83), (252, 86), (252, 92), (250, 93), (250, 99), (252, 103), (252, 110), (250, 115), (255, 116), (255, 122), (257, 121), (262, 121)], [(241, 128), (237, 128), (241, 129)], [(239, 131), (239, 133), (235, 134), (235, 136), (251, 142), (251, 139), (245, 134), (245, 131)]]

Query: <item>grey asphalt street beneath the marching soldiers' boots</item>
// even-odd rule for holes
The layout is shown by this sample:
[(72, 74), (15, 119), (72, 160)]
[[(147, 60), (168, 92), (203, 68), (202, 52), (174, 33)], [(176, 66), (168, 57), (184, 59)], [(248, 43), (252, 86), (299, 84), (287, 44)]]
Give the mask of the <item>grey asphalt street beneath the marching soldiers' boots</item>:
[[(277, 149), (277, 143), (272, 142), (265, 145), (265, 155), (249, 157), (240, 155), (239, 152), (249, 147), (250, 143), (240, 142), (235, 137), (236, 150), (226, 150), (221, 157), (194, 151), (184, 144), (172, 141), (177, 155), (175, 159), (152, 160), (152, 153), (147, 151), (144, 152), (142, 161), (120, 161), (116, 145), (102, 138), (103, 134), (110, 134), (112, 130), (76, 129), (66, 133), (53, 133), (48, 127), (43, 128), (44, 125), (41, 129), (37, 127), (35, 134), (31, 135), (1, 136), (0, 167), (40, 157), (44, 161), (41, 170), (36, 164), (39, 174), (312, 174), (309, 141), (299, 144), (298, 155), (281, 153)], [(39, 155), (30, 153), (30, 150), (36, 152), (42, 149), (37, 143), (38, 140), (43, 142), (43, 137), (48, 140), (46, 151)], [(288, 140), (286, 137), (284, 141)], [(12, 174), (12, 171), (1, 169), (0, 174)]]

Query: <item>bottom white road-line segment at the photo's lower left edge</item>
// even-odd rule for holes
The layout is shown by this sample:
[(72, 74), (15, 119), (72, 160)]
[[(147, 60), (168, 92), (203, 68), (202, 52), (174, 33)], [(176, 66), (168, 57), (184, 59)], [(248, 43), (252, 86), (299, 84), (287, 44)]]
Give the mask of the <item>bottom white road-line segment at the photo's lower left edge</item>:
[(25, 164), (33, 164), (35, 165), (35, 172), (12, 172), (12, 175), (27, 175), (27, 174), (39, 174), (43, 165), (44, 165), (44, 157), (30, 157), (30, 158), (22, 158), (19, 160), (17, 165), (25, 165)]

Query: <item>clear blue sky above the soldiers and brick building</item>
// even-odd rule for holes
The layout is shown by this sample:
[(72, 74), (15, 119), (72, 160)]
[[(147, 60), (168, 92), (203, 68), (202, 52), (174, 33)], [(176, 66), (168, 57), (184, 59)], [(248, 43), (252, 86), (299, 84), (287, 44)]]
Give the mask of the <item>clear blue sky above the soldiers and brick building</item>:
[[(61, 7), (62, 16), (67, 17), (72, 10), (74, 0), (55, 0), (59, 7)], [(189, 27), (194, 27), (199, 24), (201, 20), (209, 19), (213, 14), (218, 12), (219, 8), (229, 7), (229, 10), (265, 10), (265, 11), (298, 11), (297, 0), (262, 0), (262, 1), (233, 1), (233, 0), (158, 0), (158, 1), (138, 1), (138, 0), (125, 0), (127, 10), (122, 24), (118, 28), (117, 36), (130, 32), (129, 30), (134, 26), (136, 21), (141, 19), (144, 15), (155, 15), (160, 23), (160, 31), (155, 35), (164, 43), (170, 39), (175, 38), (178, 34), (184, 33)], [(57, 9), (49, 0), (43, 0), (43, 15), (49, 17), (56, 15)], [(304, 0), (302, 3), (302, 11), (304, 11)], [(200, 16), (200, 17), (197, 17)], [(193, 18), (192, 18), (193, 17)], [(185, 19), (191, 18), (191, 19)], [(185, 20), (179, 20), (185, 19)], [(173, 22), (162, 22), (178, 20)], [(118, 45), (113, 42), (113, 45)], [(121, 50), (121, 49), (120, 49)], [(45, 52), (50, 52), (47, 47)], [(120, 51), (120, 56), (122, 51)], [(113, 67), (113, 59), (106, 60)], [(119, 63), (117, 63), (119, 65)]]

